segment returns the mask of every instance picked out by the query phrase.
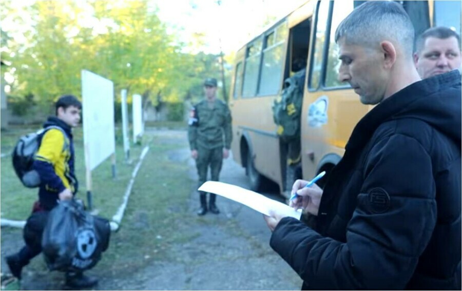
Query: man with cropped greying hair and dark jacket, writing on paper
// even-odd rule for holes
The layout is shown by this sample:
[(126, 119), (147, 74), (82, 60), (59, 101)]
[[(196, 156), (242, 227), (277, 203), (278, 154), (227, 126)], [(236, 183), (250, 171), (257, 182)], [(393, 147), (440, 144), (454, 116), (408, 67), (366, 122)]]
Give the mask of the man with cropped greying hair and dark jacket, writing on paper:
[(339, 80), (363, 104), (324, 189), (297, 180), (291, 202), (311, 227), (265, 216), (271, 247), (303, 289), (459, 289), (461, 75), (421, 80), (402, 6), (370, 1), (335, 32)]

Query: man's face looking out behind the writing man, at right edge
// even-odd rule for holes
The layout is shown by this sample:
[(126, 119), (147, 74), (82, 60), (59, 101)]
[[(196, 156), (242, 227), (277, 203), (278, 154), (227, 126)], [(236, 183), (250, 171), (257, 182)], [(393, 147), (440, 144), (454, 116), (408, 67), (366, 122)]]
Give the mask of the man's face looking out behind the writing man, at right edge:
[(460, 70), (460, 36), (447, 27), (427, 29), (417, 37), (414, 63), (422, 79)]

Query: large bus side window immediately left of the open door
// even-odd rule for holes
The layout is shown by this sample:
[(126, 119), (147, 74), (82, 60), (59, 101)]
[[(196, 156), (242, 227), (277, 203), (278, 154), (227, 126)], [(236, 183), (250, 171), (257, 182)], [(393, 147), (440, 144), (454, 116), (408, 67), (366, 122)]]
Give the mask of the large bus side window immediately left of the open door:
[[(284, 22), (265, 37), (259, 95), (274, 95), (277, 94), (281, 88), (285, 43), (285, 38), (283, 37), (284, 34), (287, 35), (284, 33), (286, 30), (287, 24)], [(279, 36), (279, 33), (283, 35)]]

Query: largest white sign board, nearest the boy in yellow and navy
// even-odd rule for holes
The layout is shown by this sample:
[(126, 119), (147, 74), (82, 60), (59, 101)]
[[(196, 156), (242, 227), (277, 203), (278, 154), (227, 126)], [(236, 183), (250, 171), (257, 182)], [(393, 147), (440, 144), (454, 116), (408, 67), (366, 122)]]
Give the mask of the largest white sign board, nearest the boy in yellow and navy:
[(90, 171), (115, 152), (114, 85), (82, 70), (85, 162)]

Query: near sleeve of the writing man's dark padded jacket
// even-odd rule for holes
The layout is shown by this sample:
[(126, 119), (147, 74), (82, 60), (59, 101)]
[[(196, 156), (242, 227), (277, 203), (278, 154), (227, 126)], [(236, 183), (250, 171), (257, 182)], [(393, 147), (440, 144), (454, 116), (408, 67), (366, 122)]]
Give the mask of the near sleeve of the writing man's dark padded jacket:
[[(282, 219), (273, 232), (271, 247), (310, 288), (404, 289), (430, 240), (435, 183), (430, 156), (418, 141), (399, 134), (380, 141), (363, 175), (346, 243), (293, 218)], [(370, 193), (379, 188), (389, 196), (388, 208), (373, 203)]]

